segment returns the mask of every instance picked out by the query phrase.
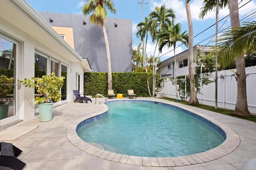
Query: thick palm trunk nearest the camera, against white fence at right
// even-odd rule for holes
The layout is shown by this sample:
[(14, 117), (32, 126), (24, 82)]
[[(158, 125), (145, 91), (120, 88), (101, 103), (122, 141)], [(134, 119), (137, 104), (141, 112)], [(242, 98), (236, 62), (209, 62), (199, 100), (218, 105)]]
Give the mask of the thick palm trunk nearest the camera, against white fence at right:
[[(229, 12), (230, 22), (232, 29), (240, 27), (239, 12), (238, 12), (238, 0), (229, 0)], [(237, 100), (236, 109), (234, 114), (241, 116), (250, 116), (247, 104), (246, 94), (246, 73), (244, 54), (242, 56), (236, 56), (236, 72), (239, 73), (237, 77)]]

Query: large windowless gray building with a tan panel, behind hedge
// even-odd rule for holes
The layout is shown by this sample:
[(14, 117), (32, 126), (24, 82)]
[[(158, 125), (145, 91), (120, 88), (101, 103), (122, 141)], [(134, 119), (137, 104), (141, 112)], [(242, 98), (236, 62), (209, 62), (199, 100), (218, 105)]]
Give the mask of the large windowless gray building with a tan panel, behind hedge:
[[(101, 27), (92, 26), (89, 17), (83, 15), (38, 13), (76, 52), (88, 58), (93, 72), (107, 72), (106, 47)], [(131, 72), (132, 20), (107, 18), (105, 25), (112, 72)]]

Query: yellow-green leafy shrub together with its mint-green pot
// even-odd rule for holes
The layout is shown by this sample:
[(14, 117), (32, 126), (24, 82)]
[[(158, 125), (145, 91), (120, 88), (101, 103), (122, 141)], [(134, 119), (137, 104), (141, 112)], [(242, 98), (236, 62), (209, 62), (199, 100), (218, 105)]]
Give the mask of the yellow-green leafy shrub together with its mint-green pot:
[(60, 101), (61, 93), (60, 88), (62, 88), (63, 80), (65, 77), (56, 77), (55, 73), (52, 75), (43, 75), (42, 78), (32, 77), (34, 82), (29, 79), (24, 79), (21, 81), (26, 87), (34, 88), (43, 97), (36, 97), (34, 104), (38, 104), (40, 122), (48, 122), (52, 120), (52, 101)]

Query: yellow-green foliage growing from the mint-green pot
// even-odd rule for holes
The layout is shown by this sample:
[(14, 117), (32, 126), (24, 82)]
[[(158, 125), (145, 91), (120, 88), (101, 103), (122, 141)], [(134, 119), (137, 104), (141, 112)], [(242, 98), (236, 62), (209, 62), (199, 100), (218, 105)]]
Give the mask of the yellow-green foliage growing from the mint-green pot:
[(35, 99), (34, 104), (48, 103), (52, 100), (60, 101), (61, 93), (60, 88), (63, 85), (65, 77), (57, 77), (54, 72), (52, 75), (43, 75), (42, 78), (31, 77), (30, 79), (24, 79), (24, 81), (20, 81), (25, 87), (36, 87), (36, 91), (39, 94), (42, 94), (44, 97), (37, 97)]

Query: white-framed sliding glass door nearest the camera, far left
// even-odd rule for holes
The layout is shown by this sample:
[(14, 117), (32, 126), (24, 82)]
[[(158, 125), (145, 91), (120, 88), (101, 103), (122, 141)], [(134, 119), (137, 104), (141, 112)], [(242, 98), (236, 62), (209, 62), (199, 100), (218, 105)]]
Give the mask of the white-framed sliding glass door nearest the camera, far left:
[(19, 43), (0, 34), (0, 128), (18, 121)]

